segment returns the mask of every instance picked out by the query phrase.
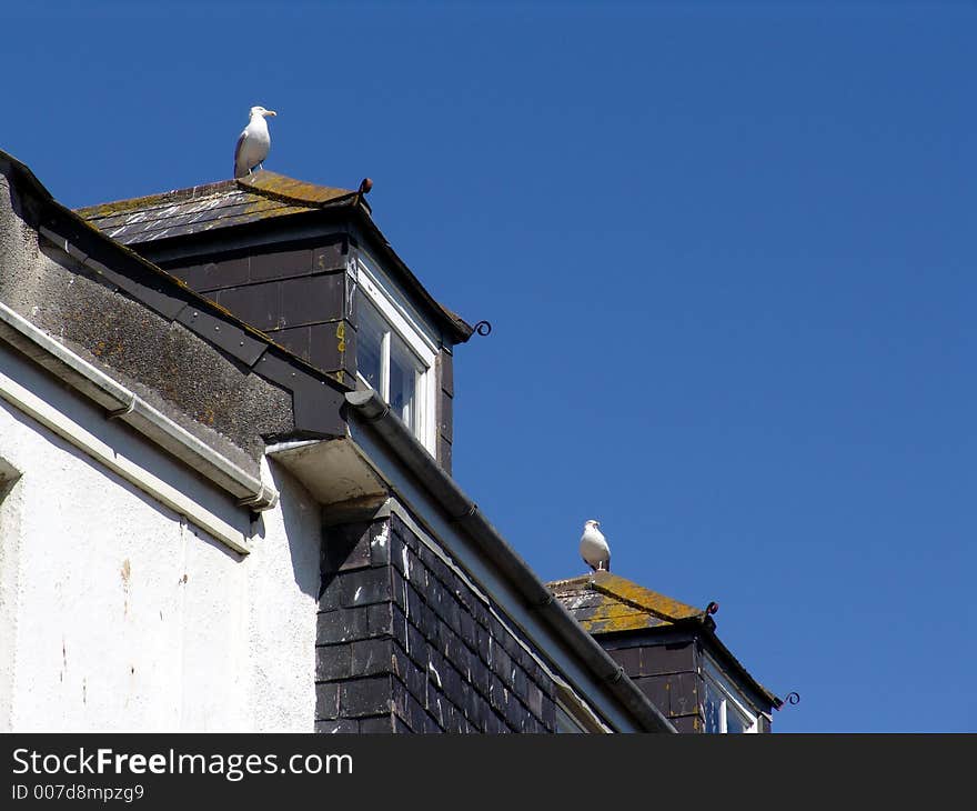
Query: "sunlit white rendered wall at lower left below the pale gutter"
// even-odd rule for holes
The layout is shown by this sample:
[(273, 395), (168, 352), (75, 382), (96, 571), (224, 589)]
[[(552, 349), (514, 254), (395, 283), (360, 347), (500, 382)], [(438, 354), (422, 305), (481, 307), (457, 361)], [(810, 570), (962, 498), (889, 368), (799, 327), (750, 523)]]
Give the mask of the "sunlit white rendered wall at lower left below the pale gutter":
[[(248, 528), (2, 343), (0, 372)], [(241, 555), (2, 400), (0, 459), (20, 472), (0, 503), (0, 730), (312, 731), (319, 510), (294, 479), (265, 468), (280, 504)]]

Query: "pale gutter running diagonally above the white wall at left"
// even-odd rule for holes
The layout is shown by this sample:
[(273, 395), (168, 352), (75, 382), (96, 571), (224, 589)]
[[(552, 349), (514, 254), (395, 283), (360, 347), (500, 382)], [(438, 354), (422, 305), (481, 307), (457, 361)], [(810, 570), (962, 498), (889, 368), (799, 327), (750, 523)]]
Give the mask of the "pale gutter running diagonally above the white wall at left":
[(0, 337), (66, 380), (118, 419), (233, 495), (241, 507), (272, 509), (278, 490), (171, 420), (135, 392), (72, 352), (58, 340), (0, 302)]

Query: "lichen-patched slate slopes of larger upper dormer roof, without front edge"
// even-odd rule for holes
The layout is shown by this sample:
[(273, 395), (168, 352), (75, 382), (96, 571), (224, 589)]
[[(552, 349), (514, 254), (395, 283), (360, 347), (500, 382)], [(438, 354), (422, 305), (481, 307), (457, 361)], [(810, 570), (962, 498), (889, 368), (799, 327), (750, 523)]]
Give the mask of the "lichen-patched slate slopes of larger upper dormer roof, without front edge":
[(354, 206), (361, 197), (264, 169), (250, 177), (89, 206), (77, 213), (122, 244), (187, 237), (275, 217)]

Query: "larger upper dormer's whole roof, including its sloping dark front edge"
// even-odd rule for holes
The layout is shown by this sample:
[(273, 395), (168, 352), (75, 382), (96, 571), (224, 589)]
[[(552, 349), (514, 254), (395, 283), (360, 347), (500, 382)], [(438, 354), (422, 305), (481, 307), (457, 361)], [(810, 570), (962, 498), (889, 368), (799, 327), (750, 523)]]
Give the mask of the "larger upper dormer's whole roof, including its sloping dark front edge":
[(405, 283), (446, 322), (454, 339), (460, 343), (469, 340), (473, 328), (427, 292), (373, 222), (364, 199), (371, 187), (372, 181), (364, 179), (360, 191), (351, 191), (261, 169), (234, 180), (88, 206), (75, 213), (107, 237), (135, 247), (286, 217), (345, 211), (363, 226)]

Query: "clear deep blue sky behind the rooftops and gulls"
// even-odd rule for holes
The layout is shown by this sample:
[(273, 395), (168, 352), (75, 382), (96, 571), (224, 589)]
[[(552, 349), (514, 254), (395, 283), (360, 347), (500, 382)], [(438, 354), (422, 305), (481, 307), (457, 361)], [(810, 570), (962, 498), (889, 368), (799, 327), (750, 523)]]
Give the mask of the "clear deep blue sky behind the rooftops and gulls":
[(21, 6), (0, 149), (68, 206), (230, 177), (258, 103), (374, 180), (494, 327), (455, 473), (542, 578), (597, 518), (775, 731), (977, 731), (974, 4)]

